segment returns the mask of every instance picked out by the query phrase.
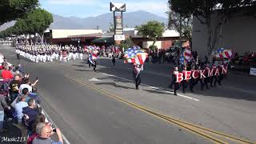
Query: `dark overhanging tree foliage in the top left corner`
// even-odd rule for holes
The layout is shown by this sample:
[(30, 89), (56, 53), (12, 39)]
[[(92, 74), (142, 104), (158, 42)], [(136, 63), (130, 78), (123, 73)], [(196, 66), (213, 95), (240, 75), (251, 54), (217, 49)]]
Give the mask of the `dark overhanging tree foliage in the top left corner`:
[(22, 18), (38, 7), (38, 0), (1, 0), (0, 1), (0, 26), (17, 18)]

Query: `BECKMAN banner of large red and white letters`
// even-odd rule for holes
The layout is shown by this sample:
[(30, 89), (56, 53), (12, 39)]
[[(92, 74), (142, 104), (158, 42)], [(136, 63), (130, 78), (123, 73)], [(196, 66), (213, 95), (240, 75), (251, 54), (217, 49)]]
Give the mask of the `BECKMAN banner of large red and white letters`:
[[(183, 80), (190, 80), (191, 78), (207, 78), (212, 76), (218, 76), (219, 74), (226, 74), (227, 66), (223, 66), (221, 69), (206, 69), (206, 70), (186, 70), (185, 73), (176, 72), (176, 82), (182, 82)], [(207, 74), (207, 75), (206, 75)]]

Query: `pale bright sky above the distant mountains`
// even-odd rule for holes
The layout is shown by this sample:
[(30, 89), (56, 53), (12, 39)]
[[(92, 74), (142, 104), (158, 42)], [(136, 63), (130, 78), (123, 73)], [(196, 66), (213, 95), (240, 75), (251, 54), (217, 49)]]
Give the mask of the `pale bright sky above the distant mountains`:
[(63, 17), (94, 17), (110, 13), (110, 2), (126, 3), (126, 12), (145, 10), (162, 17), (168, 10), (167, 0), (39, 0), (41, 7)]

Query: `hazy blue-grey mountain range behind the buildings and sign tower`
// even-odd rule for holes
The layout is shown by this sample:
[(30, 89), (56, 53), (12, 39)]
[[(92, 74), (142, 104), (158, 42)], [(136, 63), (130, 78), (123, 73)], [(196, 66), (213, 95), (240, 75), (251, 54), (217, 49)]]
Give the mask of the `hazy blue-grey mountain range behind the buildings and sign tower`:
[[(106, 31), (109, 30), (110, 22), (113, 23), (113, 13), (88, 18), (62, 17), (56, 14), (53, 14), (53, 17), (54, 22), (50, 25), (50, 29), (96, 29), (99, 26), (99, 29)], [(139, 26), (150, 20), (167, 23), (167, 18), (162, 18), (142, 10), (123, 13), (124, 27)], [(14, 22), (0, 26), (0, 31), (5, 30), (9, 26), (14, 26)]]

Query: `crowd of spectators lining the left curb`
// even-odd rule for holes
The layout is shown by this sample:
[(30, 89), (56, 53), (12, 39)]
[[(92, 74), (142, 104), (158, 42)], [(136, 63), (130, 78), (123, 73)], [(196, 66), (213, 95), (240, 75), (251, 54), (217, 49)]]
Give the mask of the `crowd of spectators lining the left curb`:
[[(40, 98), (35, 87), (38, 78), (31, 82), (30, 74), (25, 74), (21, 65), (14, 67), (7, 62), (2, 63), (0, 70), (0, 134), (8, 130), (6, 121), (11, 119), (28, 144), (62, 144), (61, 131), (53, 129), (51, 123), (46, 122), (46, 116), (38, 105)], [(57, 134), (57, 142), (51, 139), (53, 134)]]

